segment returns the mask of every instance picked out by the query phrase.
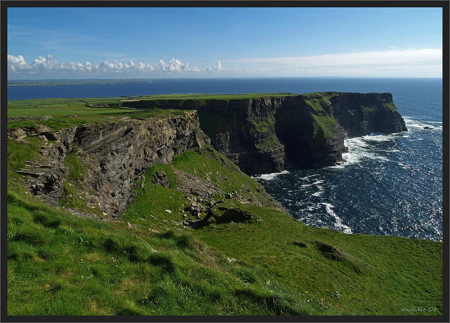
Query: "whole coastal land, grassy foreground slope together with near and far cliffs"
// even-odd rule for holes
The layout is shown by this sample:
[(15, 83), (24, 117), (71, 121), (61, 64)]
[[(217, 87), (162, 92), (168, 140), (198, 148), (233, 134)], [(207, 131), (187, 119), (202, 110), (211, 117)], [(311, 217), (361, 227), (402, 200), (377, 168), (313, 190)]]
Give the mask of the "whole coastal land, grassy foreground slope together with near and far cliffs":
[(404, 129), (383, 96), (167, 102), (198, 111), (70, 101), (9, 122), (8, 314), (442, 315), (442, 243), (306, 226), (199, 128), (260, 170), (321, 147), (314, 158), (333, 159), (342, 137)]

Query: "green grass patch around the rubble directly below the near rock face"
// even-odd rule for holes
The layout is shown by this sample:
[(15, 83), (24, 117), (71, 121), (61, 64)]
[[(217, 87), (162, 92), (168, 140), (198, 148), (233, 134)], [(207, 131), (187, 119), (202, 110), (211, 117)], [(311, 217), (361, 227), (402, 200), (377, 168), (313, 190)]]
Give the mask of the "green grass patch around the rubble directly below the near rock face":
[[(183, 215), (190, 217), (189, 212), (184, 210), (189, 206), (186, 196), (192, 198), (193, 195), (177, 190), (179, 182), (174, 169), (192, 173), (219, 187), (221, 193), (213, 193), (213, 201), (223, 200), (229, 193), (235, 197), (238, 192), (246, 201), (254, 202), (254, 197), (257, 196), (261, 204), (274, 205), (273, 199), (264, 191), (261, 192), (259, 183), (240, 172), (221, 153), (210, 148), (193, 149), (176, 156), (170, 165), (149, 167), (144, 174), (145, 181), (136, 181), (134, 203), (124, 212), (123, 219), (133, 225), (143, 225), (157, 231), (189, 230), (185, 229), (182, 221), (186, 220)], [(166, 174), (170, 182), (169, 188), (152, 183), (157, 172)], [(141, 187), (143, 183), (144, 187)], [(205, 200), (203, 206), (206, 208), (210, 201), (211, 199)], [(202, 217), (206, 214), (205, 211)]]

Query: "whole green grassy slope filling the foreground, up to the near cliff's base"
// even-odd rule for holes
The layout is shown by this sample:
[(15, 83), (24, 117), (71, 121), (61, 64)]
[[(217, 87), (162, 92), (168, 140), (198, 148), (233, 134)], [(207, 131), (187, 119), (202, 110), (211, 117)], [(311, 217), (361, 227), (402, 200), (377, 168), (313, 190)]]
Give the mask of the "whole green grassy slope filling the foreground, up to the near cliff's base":
[[(86, 109), (88, 115), (107, 112)], [(69, 107), (65, 113), (73, 114)], [(221, 166), (215, 156), (190, 151), (171, 165), (149, 169), (145, 190), (138, 189), (124, 216), (131, 227), (83, 220), (43, 205), (18, 185), (19, 175), (10, 174), (8, 314), (442, 315), (442, 243), (346, 235), (233, 199), (219, 205), (261, 221), (198, 230), (177, 224), (187, 200), (176, 190), (173, 168), (209, 178), (224, 194), (240, 189), (244, 198), (258, 196), (251, 178), (233, 165)], [(167, 173), (168, 189), (150, 183), (157, 169)], [(174, 227), (183, 233), (163, 234)], [(229, 263), (227, 257), (238, 261)], [(401, 310), (413, 306), (427, 311)]]

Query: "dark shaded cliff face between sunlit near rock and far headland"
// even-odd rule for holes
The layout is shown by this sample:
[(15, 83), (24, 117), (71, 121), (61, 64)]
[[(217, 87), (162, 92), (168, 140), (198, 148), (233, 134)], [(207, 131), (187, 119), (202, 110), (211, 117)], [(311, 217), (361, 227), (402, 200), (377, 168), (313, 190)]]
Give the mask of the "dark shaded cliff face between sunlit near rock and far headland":
[(206, 102), (197, 106), (211, 144), (248, 174), (283, 170), (284, 145), (275, 134), (281, 98)]

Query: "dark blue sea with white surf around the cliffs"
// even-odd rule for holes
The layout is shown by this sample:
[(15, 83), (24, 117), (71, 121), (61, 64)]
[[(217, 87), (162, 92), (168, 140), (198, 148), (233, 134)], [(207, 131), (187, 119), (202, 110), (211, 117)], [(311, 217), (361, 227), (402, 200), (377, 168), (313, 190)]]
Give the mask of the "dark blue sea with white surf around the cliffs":
[[(9, 87), (8, 100), (176, 93), (390, 92), (407, 132), (345, 141), (339, 166), (254, 176), (292, 215), (345, 233), (442, 241), (442, 79), (190, 79)], [(431, 129), (425, 129), (425, 127)]]

